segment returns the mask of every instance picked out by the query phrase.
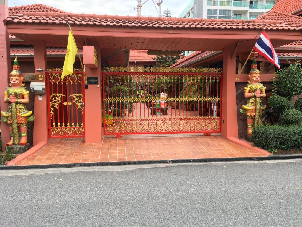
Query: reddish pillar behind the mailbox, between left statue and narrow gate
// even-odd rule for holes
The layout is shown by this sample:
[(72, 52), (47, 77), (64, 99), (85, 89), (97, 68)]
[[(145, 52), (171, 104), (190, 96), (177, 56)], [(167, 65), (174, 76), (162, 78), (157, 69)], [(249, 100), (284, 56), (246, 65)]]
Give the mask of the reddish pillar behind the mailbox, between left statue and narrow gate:
[[(46, 42), (35, 41), (34, 42), (34, 66), (35, 73), (44, 74), (46, 78), (47, 71), (47, 58), (46, 58)], [(36, 71), (36, 69), (43, 69), (44, 71)], [(46, 81), (44, 81), (46, 82)], [(46, 87), (46, 86), (45, 86)], [(46, 91), (47, 92), (47, 91)], [(36, 145), (39, 142), (48, 142), (48, 111), (47, 111), (47, 94), (42, 95), (42, 100), (38, 99), (38, 95), (35, 94), (34, 100), (34, 142)]]

